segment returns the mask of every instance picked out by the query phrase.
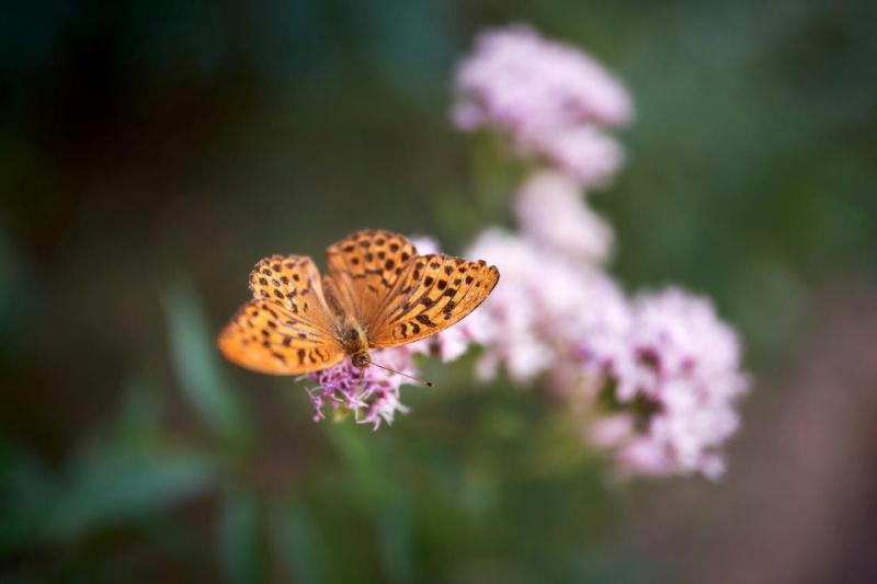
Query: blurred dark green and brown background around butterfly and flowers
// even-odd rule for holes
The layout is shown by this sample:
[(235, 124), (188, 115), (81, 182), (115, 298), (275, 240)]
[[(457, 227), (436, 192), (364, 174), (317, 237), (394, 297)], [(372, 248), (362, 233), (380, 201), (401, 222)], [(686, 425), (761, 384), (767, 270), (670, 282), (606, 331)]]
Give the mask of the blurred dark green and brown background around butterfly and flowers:
[[(472, 360), (373, 433), (213, 337), (252, 264), (362, 227), (510, 220), (447, 121), (528, 21), (637, 117), (591, 202), (625, 287), (680, 283), (755, 380), (729, 472), (613, 484)], [(874, 582), (872, 2), (299, 0), (0, 8), (3, 582)], [(435, 360), (435, 359), (433, 359)]]

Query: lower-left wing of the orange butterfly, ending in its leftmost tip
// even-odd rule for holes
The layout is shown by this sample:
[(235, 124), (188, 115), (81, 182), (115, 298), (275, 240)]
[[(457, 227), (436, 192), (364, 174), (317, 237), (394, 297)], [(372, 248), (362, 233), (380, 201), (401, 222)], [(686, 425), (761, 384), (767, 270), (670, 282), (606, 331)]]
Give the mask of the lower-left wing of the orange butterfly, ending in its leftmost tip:
[(316, 330), (265, 299), (243, 305), (217, 345), (230, 362), (273, 375), (316, 371), (344, 358), (344, 348), (328, 331)]

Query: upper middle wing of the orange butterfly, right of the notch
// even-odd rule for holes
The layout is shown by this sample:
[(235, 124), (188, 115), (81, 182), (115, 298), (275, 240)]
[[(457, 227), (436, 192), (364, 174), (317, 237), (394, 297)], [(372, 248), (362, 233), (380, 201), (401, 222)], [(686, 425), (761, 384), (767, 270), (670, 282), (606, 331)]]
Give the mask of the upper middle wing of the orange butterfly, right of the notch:
[(327, 287), (339, 308), (367, 328), (415, 255), (405, 236), (380, 229), (357, 231), (326, 250)]

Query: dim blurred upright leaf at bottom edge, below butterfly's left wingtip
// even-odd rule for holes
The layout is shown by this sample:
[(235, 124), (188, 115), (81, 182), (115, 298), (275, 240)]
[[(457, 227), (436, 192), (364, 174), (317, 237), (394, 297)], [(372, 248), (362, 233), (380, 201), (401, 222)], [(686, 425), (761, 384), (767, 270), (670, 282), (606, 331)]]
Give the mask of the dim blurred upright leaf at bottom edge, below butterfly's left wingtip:
[(260, 546), (259, 500), (240, 486), (225, 492), (219, 523), (219, 557), (229, 582), (264, 581)]

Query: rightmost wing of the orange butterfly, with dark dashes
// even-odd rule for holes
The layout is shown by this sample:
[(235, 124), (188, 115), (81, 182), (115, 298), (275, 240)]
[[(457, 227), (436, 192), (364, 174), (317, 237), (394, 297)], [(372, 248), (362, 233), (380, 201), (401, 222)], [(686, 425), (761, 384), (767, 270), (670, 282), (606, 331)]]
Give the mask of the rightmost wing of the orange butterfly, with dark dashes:
[(483, 261), (415, 256), (380, 314), (367, 323), (369, 345), (402, 345), (447, 329), (483, 302), (499, 277), (497, 267)]

